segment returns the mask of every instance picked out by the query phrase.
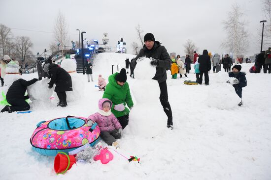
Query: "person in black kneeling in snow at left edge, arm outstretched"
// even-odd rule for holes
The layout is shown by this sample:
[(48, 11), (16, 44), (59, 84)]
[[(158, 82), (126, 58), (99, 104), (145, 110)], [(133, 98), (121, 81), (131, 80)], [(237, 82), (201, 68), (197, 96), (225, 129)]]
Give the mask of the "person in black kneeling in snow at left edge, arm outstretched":
[(30, 105), (25, 101), (29, 99), (28, 96), (25, 96), (26, 89), (27, 86), (34, 84), (37, 80), (37, 78), (29, 81), (25, 79), (15, 80), (6, 93), (6, 101), (11, 104), (11, 106), (6, 105), (1, 112), (8, 111), (8, 113), (11, 113), (13, 111), (29, 110)]

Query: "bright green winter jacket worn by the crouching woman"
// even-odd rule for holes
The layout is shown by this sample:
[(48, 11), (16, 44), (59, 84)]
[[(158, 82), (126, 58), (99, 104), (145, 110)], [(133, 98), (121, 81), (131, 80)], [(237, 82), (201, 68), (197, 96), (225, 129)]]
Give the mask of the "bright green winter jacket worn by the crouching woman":
[(130, 110), (125, 106), (123, 111), (116, 111), (114, 106), (116, 104), (123, 103), (124, 105), (128, 105), (128, 107), (134, 106), (130, 88), (128, 82), (126, 82), (123, 86), (117, 84), (116, 76), (119, 73), (115, 73), (108, 77), (108, 84), (106, 85), (105, 91), (103, 93), (102, 98), (107, 98), (112, 101), (111, 112), (116, 116), (116, 118), (125, 116), (129, 114)]

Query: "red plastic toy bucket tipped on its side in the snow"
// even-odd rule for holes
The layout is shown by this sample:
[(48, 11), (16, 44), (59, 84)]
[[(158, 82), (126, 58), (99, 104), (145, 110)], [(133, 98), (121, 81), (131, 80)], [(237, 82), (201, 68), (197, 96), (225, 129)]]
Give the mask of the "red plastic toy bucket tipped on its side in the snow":
[(76, 162), (73, 155), (68, 155), (64, 152), (59, 152), (54, 161), (54, 169), (57, 174), (63, 174), (68, 171)]

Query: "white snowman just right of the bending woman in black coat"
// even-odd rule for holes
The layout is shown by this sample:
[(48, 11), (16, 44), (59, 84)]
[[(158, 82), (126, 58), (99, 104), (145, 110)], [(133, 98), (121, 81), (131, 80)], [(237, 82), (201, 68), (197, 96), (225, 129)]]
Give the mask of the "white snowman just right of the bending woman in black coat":
[(81, 91), (84, 89), (84, 82), (79, 74), (76, 73), (76, 60), (74, 58), (64, 59), (61, 64), (61, 68), (65, 69), (71, 77), (72, 91), (67, 91), (67, 101), (75, 101), (81, 98)]

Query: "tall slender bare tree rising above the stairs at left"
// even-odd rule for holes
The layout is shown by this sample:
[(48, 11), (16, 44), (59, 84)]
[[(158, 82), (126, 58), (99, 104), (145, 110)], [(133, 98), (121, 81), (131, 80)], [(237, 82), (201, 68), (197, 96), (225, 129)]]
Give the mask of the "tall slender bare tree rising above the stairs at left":
[[(61, 50), (63, 50), (64, 47), (68, 45), (69, 37), (68, 37), (68, 24), (66, 22), (65, 16), (61, 11), (59, 11), (58, 16), (55, 20), (54, 36), (56, 44), (60, 43)], [(63, 54), (64, 53), (62, 51), (62, 55)]]

